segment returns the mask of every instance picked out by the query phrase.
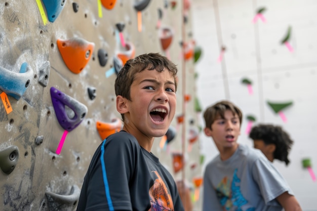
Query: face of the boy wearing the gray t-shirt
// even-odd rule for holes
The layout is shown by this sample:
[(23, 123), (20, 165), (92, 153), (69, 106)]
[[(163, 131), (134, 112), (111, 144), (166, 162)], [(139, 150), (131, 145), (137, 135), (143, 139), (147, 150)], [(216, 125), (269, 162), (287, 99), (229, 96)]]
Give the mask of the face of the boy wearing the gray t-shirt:
[(224, 119), (218, 115), (212, 123), (211, 128), (205, 128), (205, 134), (211, 136), (219, 150), (225, 148), (236, 148), (236, 140), (240, 135), (239, 117), (226, 110)]

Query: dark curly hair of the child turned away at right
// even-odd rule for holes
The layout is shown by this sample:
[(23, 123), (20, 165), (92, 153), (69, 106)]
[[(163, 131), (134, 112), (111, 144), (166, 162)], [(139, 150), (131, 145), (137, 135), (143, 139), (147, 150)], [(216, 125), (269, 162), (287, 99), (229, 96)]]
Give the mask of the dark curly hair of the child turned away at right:
[(259, 124), (251, 129), (249, 137), (253, 140), (263, 140), (266, 145), (274, 144), (274, 159), (284, 161), (286, 165), (289, 164), (288, 154), (294, 141), (283, 131), (281, 126)]

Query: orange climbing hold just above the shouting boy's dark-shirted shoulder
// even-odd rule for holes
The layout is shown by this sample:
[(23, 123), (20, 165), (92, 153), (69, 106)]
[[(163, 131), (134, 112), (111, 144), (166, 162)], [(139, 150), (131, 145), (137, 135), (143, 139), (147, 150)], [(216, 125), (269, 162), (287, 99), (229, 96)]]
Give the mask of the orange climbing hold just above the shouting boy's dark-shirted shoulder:
[(96, 123), (97, 130), (102, 140), (119, 132), (122, 129), (122, 121), (118, 118), (113, 119), (111, 122), (101, 122), (97, 121)]

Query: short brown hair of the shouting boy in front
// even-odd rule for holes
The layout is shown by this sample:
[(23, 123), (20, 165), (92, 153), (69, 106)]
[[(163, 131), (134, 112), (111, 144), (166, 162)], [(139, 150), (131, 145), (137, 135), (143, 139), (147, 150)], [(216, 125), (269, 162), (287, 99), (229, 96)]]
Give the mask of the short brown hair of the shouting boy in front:
[[(121, 95), (122, 97), (131, 101), (130, 88), (135, 79), (135, 74), (142, 72), (145, 69), (156, 70), (157, 72), (163, 72), (166, 68), (174, 77), (175, 92), (177, 89), (177, 67), (167, 57), (158, 53), (142, 54), (134, 59), (130, 59), (126, 62), (123, 68), (119, 71), (115, 82), (114, 90), (115, 95)], [(141, 108), (140, 108), (141, 109)], [(123, 120), (124, 115), (121, 114)]]

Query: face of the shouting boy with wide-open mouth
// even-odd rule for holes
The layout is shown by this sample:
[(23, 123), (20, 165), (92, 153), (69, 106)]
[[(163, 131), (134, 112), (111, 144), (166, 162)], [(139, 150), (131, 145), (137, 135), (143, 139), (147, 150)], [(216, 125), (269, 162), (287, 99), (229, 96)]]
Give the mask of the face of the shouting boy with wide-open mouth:
[(129, 128), (147, 137), (164, 136), (176, 109), (175, 80), (171, 73), (167, 69), (136, 73), (130, 94), (125, 114)]

